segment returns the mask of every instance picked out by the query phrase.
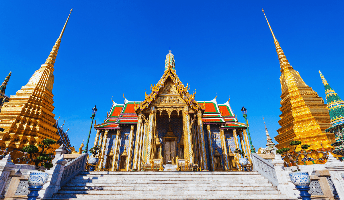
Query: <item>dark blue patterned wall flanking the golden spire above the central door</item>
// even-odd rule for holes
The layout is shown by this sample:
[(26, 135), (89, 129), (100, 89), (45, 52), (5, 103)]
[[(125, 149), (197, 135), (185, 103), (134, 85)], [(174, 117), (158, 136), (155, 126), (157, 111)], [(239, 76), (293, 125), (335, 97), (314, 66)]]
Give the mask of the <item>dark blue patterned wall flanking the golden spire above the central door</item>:
[[(167, 134), (169, 123), (169, 119), (157, 119), (157, 132), (159, 133), (160, 143), (162, 143), (162, 137)], [(171, 119), (171, 127), (173, 134), (177, 137), (177, 143), (179, 143), (183, 135), (183, 119)]]

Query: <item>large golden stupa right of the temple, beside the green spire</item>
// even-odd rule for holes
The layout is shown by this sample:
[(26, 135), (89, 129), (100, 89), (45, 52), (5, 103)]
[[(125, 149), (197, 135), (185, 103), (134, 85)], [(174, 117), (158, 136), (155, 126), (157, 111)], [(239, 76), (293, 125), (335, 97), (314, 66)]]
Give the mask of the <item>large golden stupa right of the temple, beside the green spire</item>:
[[(262, 10), (264, 13), (264, 10)], [(289, 143), (299, 140), (302, 144), (311, 145), (308, 150), (321, 150), (322, 146), (326, 149), (333, 149), (331, 143), (334, 142), (334, 134), (325, 132), (330, 127), (330, 116), (327, 104), (322, 97), (319, 97), (310, 86), (301, 78), (298, 71), (290, 65), (287, 57), (272, 32), (269, 21), (264, 13), (265, 19), (270, 28), (278, 59), (281, 66), (281, 107), (282, 114), (278, 123), (281, 128), (277, 130), (278, 149), (288, 147), (293, 149)], [(322, 146), (321, 146), (322, 145)], [(298, 146), (299, 149), (301, 149)], [(299, 150), (297, 149), (297, 150)], [(322, 156), (322, 155), (312, 155)]]

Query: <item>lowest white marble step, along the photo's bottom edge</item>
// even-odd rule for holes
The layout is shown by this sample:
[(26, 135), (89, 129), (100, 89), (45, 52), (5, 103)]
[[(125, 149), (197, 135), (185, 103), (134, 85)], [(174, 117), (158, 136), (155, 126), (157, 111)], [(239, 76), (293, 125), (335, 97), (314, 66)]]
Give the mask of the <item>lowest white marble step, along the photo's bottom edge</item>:
[[(175, 195), (169, 194), (167, 195), (171, 199), (272, 199), (272, 198), (279, 198), (279, 199), (286, 199), (286, 195), (283, 194), (225, 194), (225, 195), (217, 195), (217, 194), (198, 194), (198, 195)], [(162, 192), (160, 194), (103, 194), (101, 192), (97, 194), (54, 194), (53, 198), (62, 198), (62, 199), (69, 199), (69, 198), (78, 198), (78, 199), (165, 199), (166, 195)]]

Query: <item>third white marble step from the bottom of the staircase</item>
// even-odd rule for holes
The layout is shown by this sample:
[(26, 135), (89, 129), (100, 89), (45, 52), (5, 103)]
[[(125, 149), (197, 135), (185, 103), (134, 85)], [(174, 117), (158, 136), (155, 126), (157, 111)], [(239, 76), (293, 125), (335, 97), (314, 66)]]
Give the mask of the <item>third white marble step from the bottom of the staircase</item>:
[[(112, 184), (111, 184), (112, 185)], [(261, 186), (261, 184), (257, 184), (257, 186), (244, 186), (244, 184), (240, 184), (238, 186), (232, 186), (226, 184), (225, 186), (217, 186), (218, 184), (212, 184), (214, 186), (209, 186), (210, 184), (202, 184), (203, 186), (168, 186), (171, 184), (159, 185), (159, 186), (136, 186), (136, 184), (132, 184), (132, 186), (63, 186), (62, 190), (276, 190), (276, 186)]]

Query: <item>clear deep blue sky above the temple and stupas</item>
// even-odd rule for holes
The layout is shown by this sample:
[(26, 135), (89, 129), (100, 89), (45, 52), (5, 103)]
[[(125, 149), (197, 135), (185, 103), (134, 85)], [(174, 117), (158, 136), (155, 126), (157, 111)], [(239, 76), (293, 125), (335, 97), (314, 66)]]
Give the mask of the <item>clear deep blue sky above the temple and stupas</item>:
[[(73, 7), (55, 63), (53, 113), (76, 149), (87, 139), (91, 109), (97, 123), (111, 107), (143, 101), (164, 71), (171, 47), (176, 72), (197, 89), (197, 101), (230, 105), (244, 122), (253, 144), (274, 138), (280, 107), (280, 66), (261, 12), (294, 69), (324, 97), (321, 70), (344, 98), (343, 1), (2, 1), (0, 81), (15, 95), (49, 55)], [(62, 124), (62, 122), (60, 124)], [(92, 130), (92, 147), (95, 130)]]

